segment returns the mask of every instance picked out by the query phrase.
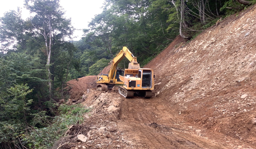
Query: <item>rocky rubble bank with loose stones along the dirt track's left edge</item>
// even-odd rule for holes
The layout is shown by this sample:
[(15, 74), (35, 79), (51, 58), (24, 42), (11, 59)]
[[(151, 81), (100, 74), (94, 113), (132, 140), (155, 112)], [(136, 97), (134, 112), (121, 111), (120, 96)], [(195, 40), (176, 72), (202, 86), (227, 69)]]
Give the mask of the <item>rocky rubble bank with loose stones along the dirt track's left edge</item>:
[[(86, 113), (83, 124), (70, 126), (68, 132), (69, 143), (66, 148), (133, 148), (132, 141), (124, 136), (116, 125), (118, 118), (119, 104), (121, 98), (116, 92), (97, 92), (90, 90), (85, 92), (86, 100), (82, 102), (85, 107), (91, 107), (89, 113)], [(78, 103), (77, 101), (76, 103)], [(110, 108), (115, 110), (110, 110)], [(76, 135), (80, 134), (80, 135)], [(85, 135), (86, 134), (86, 135)], [(56, 145), (60, 146), (59, 144)]]

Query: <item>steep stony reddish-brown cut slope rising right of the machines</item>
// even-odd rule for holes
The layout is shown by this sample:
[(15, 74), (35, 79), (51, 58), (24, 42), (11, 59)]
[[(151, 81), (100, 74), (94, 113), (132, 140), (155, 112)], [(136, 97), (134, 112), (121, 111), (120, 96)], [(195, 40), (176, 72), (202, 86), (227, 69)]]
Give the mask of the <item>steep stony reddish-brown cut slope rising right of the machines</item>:
[(154, 69), (156, 98), (168, 100), (191, 125), (254, 144), (255, 16), (253, 6), (189, 43), (175, 39), (145, 66)]

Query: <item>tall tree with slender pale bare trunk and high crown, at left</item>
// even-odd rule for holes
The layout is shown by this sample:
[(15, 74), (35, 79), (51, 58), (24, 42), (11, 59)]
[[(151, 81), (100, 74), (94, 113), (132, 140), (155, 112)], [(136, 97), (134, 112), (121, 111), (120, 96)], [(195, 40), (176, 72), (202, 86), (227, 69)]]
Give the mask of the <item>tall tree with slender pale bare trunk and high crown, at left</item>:
[(55, 40), (64, 40), (65, 37), (73, 33), (70, 20), (63, 17), (62, 7), (59, 5), (59, 0), (26, 0), (26, 7), (36, 15), (31, 19), (31, 24), (37, 33), (44, 37), (44, 51), (47, 55), (46, 70), (49, 85), (49, 95), (52, 98), (52, 77), (51, 72), (51, 56)]

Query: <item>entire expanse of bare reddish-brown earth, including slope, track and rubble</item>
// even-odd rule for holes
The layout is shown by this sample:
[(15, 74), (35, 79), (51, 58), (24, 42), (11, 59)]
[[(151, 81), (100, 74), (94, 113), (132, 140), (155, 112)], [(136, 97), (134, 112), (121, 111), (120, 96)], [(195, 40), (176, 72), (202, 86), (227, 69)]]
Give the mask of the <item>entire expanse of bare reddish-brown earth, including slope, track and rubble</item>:
[(96, 76), (70, 82), (71, 99), (83, 97), (92, 110), (81, 124), (85, 131), (77, 130), (88, 141), (77, 143), (71, 135), (69, 147), (256, 148), (255, 9), (227, 17), (190, 42), (177, 37), (145, 66), (156, 75), (153, 98), (92, 90)]

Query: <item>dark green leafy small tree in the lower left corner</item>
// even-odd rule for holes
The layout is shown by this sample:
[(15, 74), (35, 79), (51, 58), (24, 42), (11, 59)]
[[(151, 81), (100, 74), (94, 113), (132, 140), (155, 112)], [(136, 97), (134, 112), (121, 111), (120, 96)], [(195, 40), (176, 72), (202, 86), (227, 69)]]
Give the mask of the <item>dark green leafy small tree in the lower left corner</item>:
[[(0, 147), (16, 148), (22, 146), (20, 135), (28, 128), (27, 117), (29, 115), (32, 99), (27, 98), (29, 90), (27, 84), (14, 85), (7, 89), (8, 97), (0, 95)], [(16, 146), (16, 147), (14, 147)]]

